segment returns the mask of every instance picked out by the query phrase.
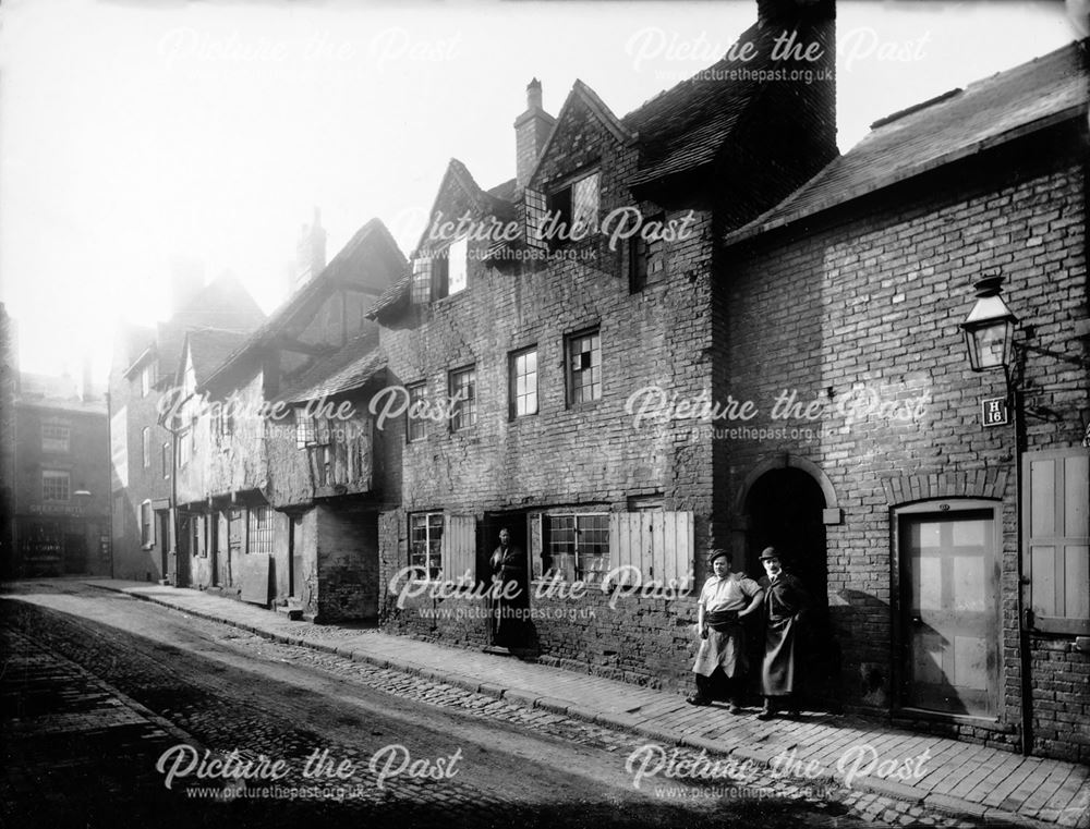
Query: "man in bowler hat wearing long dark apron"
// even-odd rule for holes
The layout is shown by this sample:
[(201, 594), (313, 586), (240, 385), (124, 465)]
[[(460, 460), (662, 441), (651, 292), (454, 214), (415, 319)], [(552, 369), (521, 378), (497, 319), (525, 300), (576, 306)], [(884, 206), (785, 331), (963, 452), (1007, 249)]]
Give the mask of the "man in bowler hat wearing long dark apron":
[(799, 618), (806, 612), (810, 599), (802, 582), (784, 572), (775, 547), (765, 547), (761, 551), (761, 563), (765, 573), (759, 582), (765, 608), (764, 663), (761, 666), (764, 709), (758, 719), (768, 720), (780, 708), (798, 716)]

